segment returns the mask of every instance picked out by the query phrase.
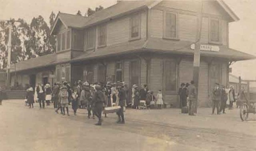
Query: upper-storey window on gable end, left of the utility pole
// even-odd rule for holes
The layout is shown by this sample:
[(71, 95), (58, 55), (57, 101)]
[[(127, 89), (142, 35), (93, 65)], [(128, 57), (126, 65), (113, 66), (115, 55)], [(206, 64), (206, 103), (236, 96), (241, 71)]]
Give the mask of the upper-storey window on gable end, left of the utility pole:
[(166, 12), (164, 20), (164, 38), (178, 39), (178, 14)]

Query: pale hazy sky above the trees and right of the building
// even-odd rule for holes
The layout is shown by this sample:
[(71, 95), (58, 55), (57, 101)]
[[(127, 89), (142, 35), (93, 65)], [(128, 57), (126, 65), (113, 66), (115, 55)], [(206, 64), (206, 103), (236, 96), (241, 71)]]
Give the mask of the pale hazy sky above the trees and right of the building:
[[(240, 20), (229, 23), (229, 47), (256, 56), (256, 1), (255, 0), (223, 0)], [(0, 19), (24, 18), (30, 22), (33, 17), (41, 15), (47, 22), (53, 11), (82, 15), (87, 9), (104, 8), (114, 5), (116, 0), (0, 0)], [(256, 80), (256, 60), (234, 63), (232, 74), (242, 79)]]

